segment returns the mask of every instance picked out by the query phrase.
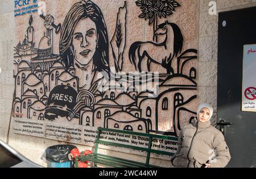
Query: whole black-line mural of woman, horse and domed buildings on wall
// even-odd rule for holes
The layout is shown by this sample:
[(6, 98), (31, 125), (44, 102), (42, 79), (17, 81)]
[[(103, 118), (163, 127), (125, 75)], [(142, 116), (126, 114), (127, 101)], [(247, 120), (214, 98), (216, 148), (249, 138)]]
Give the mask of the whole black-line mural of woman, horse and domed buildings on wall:
[[(197, 50), (184, 50), (178, 24), (166, 19), (176, 7), (182, 8), (179, 3), (136, 4), (143, 11), (138, 18), (153, 23), (154, 39), (134, 41), (130, 47), (127, 2), (113, 19), (113, 34), (108, 34), (104, 15), (92, 1), (73, 4), (61, 24), (52, 15), (41, 14), (46, 33), (38, 47), (31, 15), (25, 38), (14, 48), (13, 116), (177, 136), (196, 117)], [(158, 18), (165, 22), (158, 24)], [(54, 38), (59, 33), (55, 54)], [(154, 65), (165, 73), (154, 72)], [(127, 66), (134, 72), (123, 72)], [(150, 82), (157, 93), (155, 88), (140, 90)]]

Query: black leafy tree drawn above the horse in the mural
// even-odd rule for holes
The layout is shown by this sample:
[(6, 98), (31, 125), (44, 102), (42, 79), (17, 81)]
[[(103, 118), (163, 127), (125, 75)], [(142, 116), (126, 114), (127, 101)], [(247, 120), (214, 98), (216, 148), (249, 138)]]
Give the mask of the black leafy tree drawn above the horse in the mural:
[[(172, 15), (172, 11), (175, 11), (176, 7), (179, 7), (179, 3), (174, 0), (139, 0), (135, 2), (137, 6), (141, 7), (142, 13), (139, 18), (148, 19), (148, 25), (153, 23), (153, 31), (158, 27), (158, 18), (166, 18)], [(157, 36), (154, 35), (153, 40), (157, 40)]]

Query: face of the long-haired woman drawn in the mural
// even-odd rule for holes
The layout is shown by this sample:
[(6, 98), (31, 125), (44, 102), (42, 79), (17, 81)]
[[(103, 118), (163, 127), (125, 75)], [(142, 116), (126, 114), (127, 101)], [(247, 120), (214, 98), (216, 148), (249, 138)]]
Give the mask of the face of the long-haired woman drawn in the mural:
[(84, 18), (77, 24), (73, 34), (73, 53), (78, 63), (88, 65), (96, 51), (97, 31), (90, 18)]

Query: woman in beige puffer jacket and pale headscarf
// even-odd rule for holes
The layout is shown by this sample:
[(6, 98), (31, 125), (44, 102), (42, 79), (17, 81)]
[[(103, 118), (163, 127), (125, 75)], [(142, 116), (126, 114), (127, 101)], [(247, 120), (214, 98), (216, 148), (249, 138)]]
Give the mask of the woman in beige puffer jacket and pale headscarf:
[(212, 106), (204, 103), (197, 109), (197, 120), (184, 126), (172, 164), (182, 168), (222, 168), (230, 160), (229, 148), (222, 133), (211, 126)]

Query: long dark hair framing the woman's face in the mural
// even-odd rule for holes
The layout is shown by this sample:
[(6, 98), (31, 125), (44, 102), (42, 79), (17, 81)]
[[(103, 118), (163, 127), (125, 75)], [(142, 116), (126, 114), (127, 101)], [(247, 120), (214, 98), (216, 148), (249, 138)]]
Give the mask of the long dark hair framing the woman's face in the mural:
[(100, 8), (92, 1), (80, 1), (69, 10), (60, 33), (60, 57), (65, 69), (74, 65), (73, 33), (76, 25), (83, 18), (90, 18), (97, 28), (97, 47), (93, 55), (94, 69), (98, 72), (109, 72), (109, 39), (104, 16)]

